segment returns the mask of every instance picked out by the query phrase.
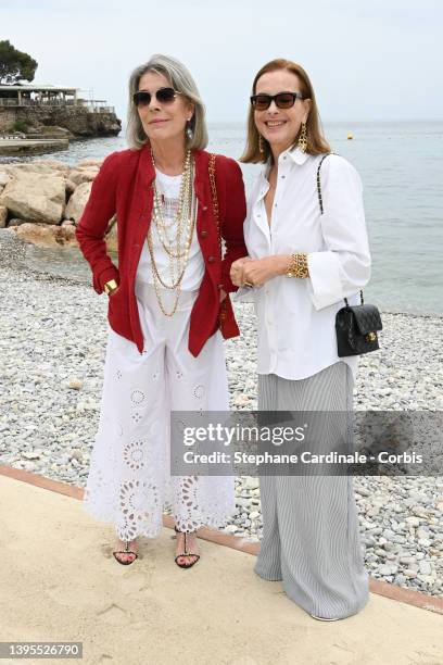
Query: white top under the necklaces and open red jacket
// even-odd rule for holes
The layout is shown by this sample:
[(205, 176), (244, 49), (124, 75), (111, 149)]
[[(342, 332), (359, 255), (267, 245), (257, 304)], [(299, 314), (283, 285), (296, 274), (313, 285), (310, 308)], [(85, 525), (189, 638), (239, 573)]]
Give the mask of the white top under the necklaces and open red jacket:
[[(157, 168), (155, 168), (155, 178), (157, 191), (163, 195), (164, 209), (163, 216), (166, 224), (173, 222), (174, 214), (178, 204), (178, 198), (180, 193), (181, 175), (169, 176)], [(198, 202), (195, 201), (195, 208)], [(195, 211), (197, 214), (197, 211)], [(174, 237), (176, 233), (176, 226), (170, 226), (168, 229), (168, 236)], [(152, 246), (155, 256), (155, 265), (157, 271), (165, 284), (172, 283), (170, 271), (169, 271), (169, 256), (166, 253), (163, 244), (159, 238), (155, 224), (151, 222), (152, 233)], [(194, 291), (200, 288), (201, 281), (204, 275), (204, 261), (200, 249), (199, 240), (197, 238), (195, 227), (192, 233), (191, 247), (189, 249), (188, 263), (185, 269), (185, 275), (181, 280), (181, 291)], [(137, 268), (137, 279), (144, 284), (154, 284), (151, 267), (151, 256), (148, 249), (148, 240), (144, 240), (143, 249), (141, 251), (140, 261)], [(160, 288), (164, 288), (161, 284)]]

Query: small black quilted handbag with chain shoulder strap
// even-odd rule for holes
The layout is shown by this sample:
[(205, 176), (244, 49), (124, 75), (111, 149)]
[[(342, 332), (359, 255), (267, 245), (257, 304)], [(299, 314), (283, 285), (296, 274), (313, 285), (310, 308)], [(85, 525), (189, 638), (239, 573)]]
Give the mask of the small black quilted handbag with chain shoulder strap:
[[(320, 187), (320, 166), (328, 155), (325, 154), (317, 168), (317, 191), (320, 211), (324, 214), (321, 187)], [(350, 305), (347, 299), (344, 299), (346, 304), (337, 312), (336, 315), (336, 332), (337, 348), (339, 357), (345, 355), (360, 355), (377, 351), (379, 349), (378, 330), (382, 330), (380, 312), (376, 305), (365, 303), (363, 291), (360, 291), (362, 303), (359, 305)]]

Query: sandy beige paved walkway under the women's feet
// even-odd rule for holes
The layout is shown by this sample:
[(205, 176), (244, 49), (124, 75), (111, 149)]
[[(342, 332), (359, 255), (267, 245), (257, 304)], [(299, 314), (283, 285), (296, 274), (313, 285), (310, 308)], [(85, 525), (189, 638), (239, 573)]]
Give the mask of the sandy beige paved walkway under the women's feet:
[(360, 614), (316, 622), (254, 575), (250, 553), (201, 540), (201, 561), (179, 569), (169, 528), (119, 566), (112, 526), (58, 493), (80, 490), (42, 479), (50, 491), (5, 469), (0, 641), (81, 641), (88, 665), (443, 665), (441, 601), (431, 612), (371, 593)]

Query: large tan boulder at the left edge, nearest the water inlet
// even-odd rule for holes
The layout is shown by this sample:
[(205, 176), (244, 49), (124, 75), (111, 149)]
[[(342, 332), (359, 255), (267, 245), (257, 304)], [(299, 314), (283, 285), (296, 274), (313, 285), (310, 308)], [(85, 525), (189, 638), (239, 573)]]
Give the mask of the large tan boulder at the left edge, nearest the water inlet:
[(0, 205), (20, 219), (59, 224), (65, 209), (65, 178), (52, 173), (17, 171), (0, 195)]

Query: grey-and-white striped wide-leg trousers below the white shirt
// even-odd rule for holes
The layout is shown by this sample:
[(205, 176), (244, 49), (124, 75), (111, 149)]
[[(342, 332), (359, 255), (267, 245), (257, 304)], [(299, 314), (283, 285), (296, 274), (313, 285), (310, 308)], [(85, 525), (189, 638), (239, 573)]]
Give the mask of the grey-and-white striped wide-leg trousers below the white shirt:
[[(260, 411), (352, 411), (353, 375), (338, 362), (301, 380), (258, 377)], [(322, 446), (327, 449), (327, 446)], [(351, 476), (262, 476), (263, 539), (255, 573), (281, 580), (307, 613), (345, 618), (368, 602)]]

